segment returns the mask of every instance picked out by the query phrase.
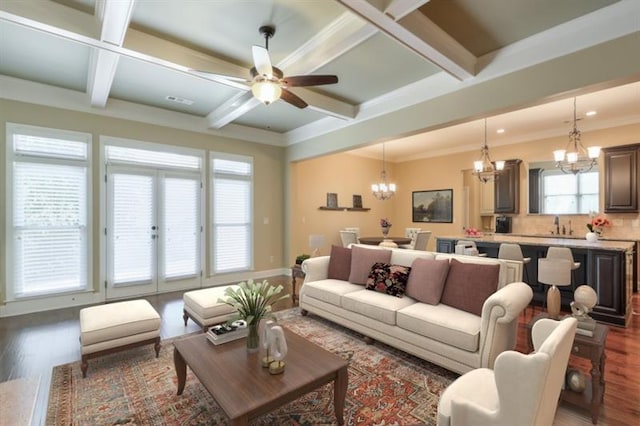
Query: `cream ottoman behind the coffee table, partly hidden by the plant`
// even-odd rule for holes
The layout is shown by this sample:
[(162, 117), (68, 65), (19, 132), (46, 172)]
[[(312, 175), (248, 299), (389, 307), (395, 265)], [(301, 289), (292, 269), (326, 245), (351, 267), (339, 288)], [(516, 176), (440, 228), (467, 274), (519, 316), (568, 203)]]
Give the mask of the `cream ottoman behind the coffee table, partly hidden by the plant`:
[(210, 287), (202, 290), (188, 291), (182, 296), (184, 302), (184, 325), (191, 318), (193, 322), (202, 327), (204, 332), (212, 325), (220, 324), (237, 314), (233, 307), (218, 299), (224, 299), (224, 291), (228, 287)]

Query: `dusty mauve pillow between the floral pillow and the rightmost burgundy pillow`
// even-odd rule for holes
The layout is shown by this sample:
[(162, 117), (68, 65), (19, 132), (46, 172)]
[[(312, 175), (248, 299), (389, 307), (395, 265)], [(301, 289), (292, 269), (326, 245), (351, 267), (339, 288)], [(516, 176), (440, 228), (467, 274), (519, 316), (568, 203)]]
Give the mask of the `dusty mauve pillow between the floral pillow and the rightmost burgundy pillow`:
[(411, 265), (406, 294), (414, 299), (437, 305), (449, 272), (446, 259), (416, 259)]

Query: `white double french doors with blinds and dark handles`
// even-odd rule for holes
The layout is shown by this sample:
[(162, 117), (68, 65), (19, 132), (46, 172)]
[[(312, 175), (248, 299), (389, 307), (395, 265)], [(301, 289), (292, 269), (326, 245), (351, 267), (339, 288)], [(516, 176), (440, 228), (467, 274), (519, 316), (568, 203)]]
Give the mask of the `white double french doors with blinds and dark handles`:
[(201, 284), (200, 174), (107, 166), (106, 298)]

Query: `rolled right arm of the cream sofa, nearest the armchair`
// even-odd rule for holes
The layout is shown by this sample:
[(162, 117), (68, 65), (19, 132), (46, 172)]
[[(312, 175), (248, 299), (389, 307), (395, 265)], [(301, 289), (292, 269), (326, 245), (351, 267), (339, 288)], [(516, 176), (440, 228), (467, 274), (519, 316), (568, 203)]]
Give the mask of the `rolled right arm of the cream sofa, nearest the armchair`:
[(518, 316), (532, 298), (531, 287), (518, 281), (507, 284), (485, 300), (480, 325), (480, 367), (493, 369), (498, 355), (515, 348)]

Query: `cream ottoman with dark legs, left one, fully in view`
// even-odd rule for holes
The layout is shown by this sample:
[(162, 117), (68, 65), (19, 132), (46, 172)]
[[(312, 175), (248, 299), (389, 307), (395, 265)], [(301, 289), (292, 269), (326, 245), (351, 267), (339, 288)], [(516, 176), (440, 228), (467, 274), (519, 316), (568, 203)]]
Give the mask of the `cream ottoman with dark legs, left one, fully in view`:
[(80, 310), (82, 377), (87, 360), (136, 346), (154, 345), (160, 353), (160, 315), (146, 300), (91, 306)]

